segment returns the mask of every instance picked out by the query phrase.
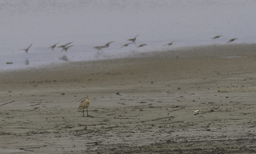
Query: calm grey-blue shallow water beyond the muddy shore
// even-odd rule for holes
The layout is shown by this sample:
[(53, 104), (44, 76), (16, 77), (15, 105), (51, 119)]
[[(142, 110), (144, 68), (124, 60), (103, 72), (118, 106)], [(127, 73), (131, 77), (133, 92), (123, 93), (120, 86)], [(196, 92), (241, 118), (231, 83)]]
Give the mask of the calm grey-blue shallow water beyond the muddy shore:
[[(232, 38), (238, 39), (229, 44), (256, 43), (255, 6), (252, 0), (0, 0), (0, 70), (223, 45)], [(121, 48), (137, 34), (136, 44)], [(212, 39), (216, 35), (223, 36)], [(110, 41), (115, 42), (97, 54), (94, 46)], [(68, 52), (48, 49), (58, 42), (74, 46)], [(21, 50), (30, 44), (28, 54)]]

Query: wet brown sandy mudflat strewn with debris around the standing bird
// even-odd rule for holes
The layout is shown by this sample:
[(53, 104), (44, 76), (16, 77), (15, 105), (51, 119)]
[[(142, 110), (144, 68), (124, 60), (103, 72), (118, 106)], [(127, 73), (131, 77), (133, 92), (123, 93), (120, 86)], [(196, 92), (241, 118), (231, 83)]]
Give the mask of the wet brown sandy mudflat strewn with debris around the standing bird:
[[(2, 72), (0, 153), (255, 153), (255, 92), (218, 92), (256, 88), (255, 49)], [(77, 110), (86, 95), (90, 117)]]

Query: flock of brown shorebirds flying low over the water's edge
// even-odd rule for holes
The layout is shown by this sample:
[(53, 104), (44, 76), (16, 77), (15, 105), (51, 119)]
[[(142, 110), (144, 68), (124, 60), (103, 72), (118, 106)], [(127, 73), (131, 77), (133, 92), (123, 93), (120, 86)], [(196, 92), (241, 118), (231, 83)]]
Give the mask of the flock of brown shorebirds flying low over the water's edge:
[[(139, 35), (139, 34), (138, 34), (138, 35)], [(135, 38), (128, 39), (128, 41), (132, 41), (132, 43), (124, 44), (121, 48), (123, 48), (124, 46), (128, 46), (129, 44), (136, 44), (136, 43), (135, 43), (135, 40), (136, 40), (136, 37), (137, 37), (138, 35), (136, 35)], [(219, 38), (219, 37), (221, 37), (221, 36), (222, 36), (222, 35), (218, 35), (218, 36), (213, 37), (212, 39), (216, 39), (216, 38)], [(238, 39), (238, 38), (230, 39), (227, 43), (233, 42), (235, 39)], [(94, 48), (97, 49), (97, 50), (98, 50), (97, 53), (99, 53), (99, 51), (100, 51), (101, 49), (103, 49), (103, 48), (108, 48), (108, 46), (110, 46), (110, 43), (112, 43), (112, 42), (114, 42), (114, 41), (108, 42), (107, 44), (105, 44), (105, 45), (103, 45), (103, 46), (95, 46)], [(173, 41), (173, 42), (171, 42), (171, 43), (167, 43), (166, 45), (170, 46), (170, 45), (172, 45), (172, 43), (174, 43), (174, 42), (176, 42), (176, 41)], [(59, 42), (59, 43), (60, 43), (60, 42)], [(64, 45), (60, 45), (60, 46), (58, 46), (58, 48), (62, 48), (63, 50), (65, 50), (65, 51), (67, 52), (68, 49), (69, 49), (71, 46), (74, 46), (74, 45), (67, 46), (67, 45), (69, 45), (69, 44), (71, 44), (71, 43), (73, 43), (73, 42), (70, 42), (70, 43), (67, 43), (67, 44), (64, 44)], [(51, 48), (51, 49), (54, 49), (57, 44), (58, 44), (58, 43), (54, 44), (53, 46), (50, 46), (48, 49), (50, 49), (50, 48)], [(146, 44), (140, 44), (139, 46), (137, 46), (137, 48), (142, 47), (142, 46), (144, 46), (144, 45), (146, 45)], [(166, 45), (164, 45), (164, 46), (166, 46)], [(21, 50), (25, 50), (25, 53), (28, 53), (28, 49), (29, 49), (31, 46), (32, 46), (32, 44), (30, 44), (30, 46), (28, 46), (27, 49), (21, 49)], [(119, 48), (119, 49), (121, 49), (121, 48)], [(63, 50), (61, 50), (60, 52), (62, 52)], [(101, 50), (101, 51), (102, 51), (102, 50)], [(103, 53), (103, 51), (102, 51), (102, 53)]]

